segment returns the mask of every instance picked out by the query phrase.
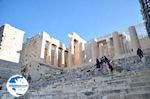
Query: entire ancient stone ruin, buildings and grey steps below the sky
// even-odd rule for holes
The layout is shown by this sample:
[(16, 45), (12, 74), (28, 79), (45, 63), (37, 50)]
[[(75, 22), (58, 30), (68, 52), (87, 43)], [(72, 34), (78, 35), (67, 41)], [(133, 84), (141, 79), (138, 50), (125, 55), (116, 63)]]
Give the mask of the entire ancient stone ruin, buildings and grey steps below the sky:
[[(0, 83), (16, 73), (32, 78), (21, 99), (150, 99), (150, 39), (140, 38), (136, 26), (90, 41), (72, 32), (67, 46), (46, 32), (23, 43), (24, 33), (0, 27)], [(96, 69), (102, 56), (111, 60), (113, 73)], [(2, 99), (14, 99), (2, 93)]]

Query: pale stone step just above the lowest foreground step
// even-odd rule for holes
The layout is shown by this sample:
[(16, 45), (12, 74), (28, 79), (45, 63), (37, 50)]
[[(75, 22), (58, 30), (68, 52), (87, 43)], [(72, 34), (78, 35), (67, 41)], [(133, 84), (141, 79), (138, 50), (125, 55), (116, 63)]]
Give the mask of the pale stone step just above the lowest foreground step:
[(118, 86), (73, 86), (73, 87), (66, 87), (62, 86), (61, 88), (56, 89), (45, 89), (49, 92), (57, 92), (57, 91), (63, 91), (63, 92), (81, 92), (81, 91), (111, 91), (111, 90), (134, 90), (134, 89), (142, 89), (142, 88), (149, 88), (149, 85), (143, 85), (143, 86), (130, 86), (130, 85), (118, 85)]

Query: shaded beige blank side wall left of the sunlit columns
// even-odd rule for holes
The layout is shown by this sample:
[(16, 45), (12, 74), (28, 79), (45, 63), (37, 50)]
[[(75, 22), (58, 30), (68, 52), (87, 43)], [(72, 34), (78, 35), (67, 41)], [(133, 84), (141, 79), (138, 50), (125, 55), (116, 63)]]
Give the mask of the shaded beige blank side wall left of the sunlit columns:
[(41, 44), (42, 44), (42, 36), (36, 35), (31, 39), (27, 40), (23, 44), (23, 49), (21, 51), (20, 64), (26, 65), (32, 61), (41, 61)]

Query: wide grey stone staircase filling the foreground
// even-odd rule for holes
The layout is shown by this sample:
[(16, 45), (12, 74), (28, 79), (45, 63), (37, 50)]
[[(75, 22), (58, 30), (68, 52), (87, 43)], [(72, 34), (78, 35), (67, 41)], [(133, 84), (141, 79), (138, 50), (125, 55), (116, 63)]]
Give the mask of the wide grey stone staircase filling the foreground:
[(150, 99), (150, 68), (70, 79), (31, 89), (24, 98), (32, 99)]

